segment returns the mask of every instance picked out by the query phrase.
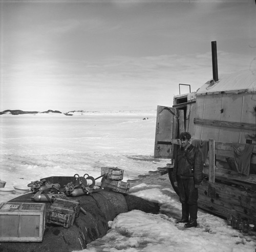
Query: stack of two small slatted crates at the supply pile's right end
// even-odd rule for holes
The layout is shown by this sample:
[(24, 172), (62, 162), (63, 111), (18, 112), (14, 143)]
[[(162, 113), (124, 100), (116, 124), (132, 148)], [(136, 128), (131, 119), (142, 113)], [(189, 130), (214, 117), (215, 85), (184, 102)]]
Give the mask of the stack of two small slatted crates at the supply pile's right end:
[(101, 167), (102, 188), (114, 192), (127, 193), (130, 189), (130, 184), (122, 181), (123, 170), (117, 167)]

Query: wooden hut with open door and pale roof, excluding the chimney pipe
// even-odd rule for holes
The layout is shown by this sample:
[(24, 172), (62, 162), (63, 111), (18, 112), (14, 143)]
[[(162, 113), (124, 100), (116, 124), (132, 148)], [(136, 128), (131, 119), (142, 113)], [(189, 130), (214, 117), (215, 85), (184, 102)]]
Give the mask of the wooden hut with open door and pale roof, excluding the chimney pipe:
[(179, 133), (190, 132), (192, 144), (207, 147), (199, 207), (256, 223), (256, 70), (215, 79), (175, 96), (173, 107), (158, 106), (154, 156), (172, 160)]

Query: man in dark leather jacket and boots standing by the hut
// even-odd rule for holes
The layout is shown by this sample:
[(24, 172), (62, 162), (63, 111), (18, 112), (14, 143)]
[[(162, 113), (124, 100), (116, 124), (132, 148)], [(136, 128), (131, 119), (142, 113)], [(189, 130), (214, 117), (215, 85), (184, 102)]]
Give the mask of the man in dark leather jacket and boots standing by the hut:
[(180, 134), (181, 147), (177, 150), (174, 162), (173, 181), (179, 189), (182, 217), (177, 223), (185, 227), (197, 226), (198, 188), (203, 181), (203, 162), (201, 151), (191, 145), (189, 132)]

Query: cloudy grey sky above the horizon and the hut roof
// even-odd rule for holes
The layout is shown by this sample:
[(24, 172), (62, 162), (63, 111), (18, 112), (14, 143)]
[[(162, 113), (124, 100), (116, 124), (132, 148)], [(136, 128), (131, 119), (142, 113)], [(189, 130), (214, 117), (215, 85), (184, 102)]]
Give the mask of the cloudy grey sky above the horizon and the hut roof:
[(179, 83), (196, 91), (212, 78), (211, 41), (219, 76), (256, 65), (254, 0), (0, 0), (0, 8), (0, 111), (172, 106)]

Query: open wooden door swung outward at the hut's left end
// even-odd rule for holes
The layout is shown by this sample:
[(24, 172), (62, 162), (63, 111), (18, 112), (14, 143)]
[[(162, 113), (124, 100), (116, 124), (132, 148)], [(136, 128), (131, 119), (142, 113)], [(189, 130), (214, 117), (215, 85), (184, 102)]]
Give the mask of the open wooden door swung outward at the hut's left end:
[(172, 139), (176, 138), (176, 108), (157, 106), (155, 158), (173, 158)]

